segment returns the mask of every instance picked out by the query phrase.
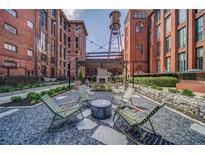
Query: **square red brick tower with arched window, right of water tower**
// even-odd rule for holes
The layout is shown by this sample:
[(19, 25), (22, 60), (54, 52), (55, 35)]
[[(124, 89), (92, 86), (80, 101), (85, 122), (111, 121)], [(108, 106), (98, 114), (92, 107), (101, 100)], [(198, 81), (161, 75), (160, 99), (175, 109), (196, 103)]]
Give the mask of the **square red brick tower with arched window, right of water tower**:
[(148, 15), (150, 10), (129, 10), (124, 22), (124, 59), (128, 75), (148, 72)]

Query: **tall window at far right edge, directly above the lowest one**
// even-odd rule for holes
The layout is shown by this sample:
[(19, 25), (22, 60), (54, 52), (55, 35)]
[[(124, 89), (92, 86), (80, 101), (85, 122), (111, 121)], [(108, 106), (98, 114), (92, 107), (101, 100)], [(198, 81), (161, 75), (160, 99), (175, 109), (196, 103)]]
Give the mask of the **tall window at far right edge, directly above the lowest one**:
[(203, 39), (204, 31), (204, 18), (203, 16), (196, 20), (196, 41), (201, 41)]

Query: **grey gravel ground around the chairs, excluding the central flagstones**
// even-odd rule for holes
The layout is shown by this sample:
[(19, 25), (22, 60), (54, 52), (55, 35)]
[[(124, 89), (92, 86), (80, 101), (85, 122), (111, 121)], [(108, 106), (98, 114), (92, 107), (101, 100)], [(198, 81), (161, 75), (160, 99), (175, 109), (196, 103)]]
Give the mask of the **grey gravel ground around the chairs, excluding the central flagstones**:
[[(112, 99), (111, 92), (97, 92), (98, 98)], [(57, 99), (59, 103), (69, 100), (77, 100), (79, 93), (70, 91), (62, 96), (63, 99)], [(143, 106), (149, 110), (153, 109), (156, 104), (141, 96), (133, 98), (134, 104)], [(7, 108), (0, 108), (0, 113), (7, 111)], [(10, 110), (10, 109), (9, 109)], [(78, 130), (76, 125), (69, 128), (63, 128), (55, 132), (47, 132), (47, 128), (52, 120), (53, 113), (44, 105), (40, 104), (32, 108), (22, 108), (19, 111), (0, 118), (0, 144), (102, 144), (91, 138), (96, 129), (100, 126), (111, 127), (102, 121), (96, 120), (91, 116), (88, 119), (96, 122), (98, 125), (90, 130)], [(75, 124), (77, 118), (70, 120)], [(163, 138), (159, 144), (205, 144), (205, 136), (190, 129), (194, 122), (180, 114), (167, 108), (162, 108), (152, 121), (157, 134)], [(60, 127), (62, 121), (57, 123)], [(150, 127), (147, 125), (147, 127)], [(114, 126), (114, 129), (116, 127)], [(164, 142), (165, 141), (165, 142)], [(133, 144), (131, 141), (128, 144)], [(150, 143), (151, 144), (151, 143)]]

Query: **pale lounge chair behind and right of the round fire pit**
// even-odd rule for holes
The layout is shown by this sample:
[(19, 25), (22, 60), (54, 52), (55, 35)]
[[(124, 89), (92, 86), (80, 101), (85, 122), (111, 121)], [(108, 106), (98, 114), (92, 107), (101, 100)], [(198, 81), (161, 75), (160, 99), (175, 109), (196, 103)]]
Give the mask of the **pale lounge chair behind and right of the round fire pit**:
[[(119, 105), (121, 106), (122, 104), (132, 104), (133, 105), (133, 101), (132, 101), (132, 95), (135, 93), (134, 88), (127, 88), (125, 93), (123, 95), (121, 95), (121, 99), (118, 100), (119, 101)], [(112, 102), (115, 101), (117, 98), (114, 96), (112, 98)]]

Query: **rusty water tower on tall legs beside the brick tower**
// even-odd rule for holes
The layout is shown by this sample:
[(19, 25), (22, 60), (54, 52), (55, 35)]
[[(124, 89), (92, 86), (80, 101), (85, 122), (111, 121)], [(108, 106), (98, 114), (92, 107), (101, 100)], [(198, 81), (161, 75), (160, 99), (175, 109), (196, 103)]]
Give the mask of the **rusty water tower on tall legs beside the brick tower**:
[(122, 39), (120, 34), (120, 16), (121, 13), (118, 10), (114, 10), (110, 13), (110, 41), (108, 50), (108, 59), (110, 54), (121, 54), (122, 52)]

